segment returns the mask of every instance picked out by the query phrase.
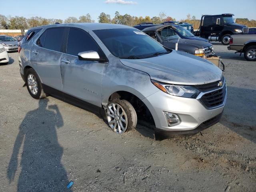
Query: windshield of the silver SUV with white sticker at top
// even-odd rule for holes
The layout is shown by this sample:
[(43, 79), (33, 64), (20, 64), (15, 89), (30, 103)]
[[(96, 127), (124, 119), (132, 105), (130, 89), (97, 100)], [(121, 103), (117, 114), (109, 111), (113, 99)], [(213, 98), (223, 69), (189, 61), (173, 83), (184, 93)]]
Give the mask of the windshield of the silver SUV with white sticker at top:
[(137, 29), (102, 29), (93, 32), (118, 58), (148, 58), (159, 53), (170, 52), (150, 36)]

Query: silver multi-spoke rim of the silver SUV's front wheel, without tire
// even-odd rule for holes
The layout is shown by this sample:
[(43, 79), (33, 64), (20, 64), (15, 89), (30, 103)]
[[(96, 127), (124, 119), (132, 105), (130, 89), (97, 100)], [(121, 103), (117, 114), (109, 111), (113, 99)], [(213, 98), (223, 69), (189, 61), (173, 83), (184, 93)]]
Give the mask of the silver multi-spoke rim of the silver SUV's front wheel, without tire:
[(107, 120), (110, 128), (117, 134), (123, 134), (128, 127), (126, 112), (118, 103), (110, 103), (108, 105)]

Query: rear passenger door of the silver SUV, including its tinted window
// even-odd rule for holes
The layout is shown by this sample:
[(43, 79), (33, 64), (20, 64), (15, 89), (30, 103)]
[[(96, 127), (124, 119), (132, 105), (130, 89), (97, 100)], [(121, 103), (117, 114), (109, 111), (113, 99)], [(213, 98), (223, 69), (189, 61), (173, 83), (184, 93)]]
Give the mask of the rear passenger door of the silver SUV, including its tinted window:
[(30, 50), (30, 62), (42, 83), (62, 90), (60, 58), (64, 46), (65, 28), (48, 28)]

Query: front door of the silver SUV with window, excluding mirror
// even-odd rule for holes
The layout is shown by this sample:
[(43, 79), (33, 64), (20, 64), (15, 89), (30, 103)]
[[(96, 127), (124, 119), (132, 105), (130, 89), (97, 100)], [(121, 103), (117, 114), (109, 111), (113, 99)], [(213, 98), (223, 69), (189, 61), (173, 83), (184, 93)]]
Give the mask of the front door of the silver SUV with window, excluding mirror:
[[(79, 52), (102, 50), (95, 40), (82, 29), (70, 28), (66, 54), (60, 58), (63, 92), (101, 107), (102, 73), (105, 63), (78, 59)], [(90, 107), (90, 105), (86, 106)]]

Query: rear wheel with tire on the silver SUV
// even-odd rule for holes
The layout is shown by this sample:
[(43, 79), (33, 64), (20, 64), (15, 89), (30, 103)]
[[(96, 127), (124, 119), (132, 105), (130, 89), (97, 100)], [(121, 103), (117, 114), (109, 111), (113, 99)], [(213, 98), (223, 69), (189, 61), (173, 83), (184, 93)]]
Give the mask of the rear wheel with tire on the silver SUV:
[(34, 69), (29, 68), (26, 71), (25, 80), (28, 92), (33, 98), (42, 99), (46, 97), (42, 82), (40, 81), (40, 78), (38, 77)]

